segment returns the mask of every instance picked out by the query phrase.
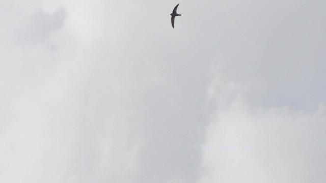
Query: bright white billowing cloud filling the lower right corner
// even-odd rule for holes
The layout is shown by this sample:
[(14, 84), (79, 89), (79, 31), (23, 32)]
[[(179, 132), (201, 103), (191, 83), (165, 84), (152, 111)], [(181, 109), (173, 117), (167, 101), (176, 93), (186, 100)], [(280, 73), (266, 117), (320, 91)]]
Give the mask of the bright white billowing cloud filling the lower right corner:
[(212, 116), (198, 182), (323, 182), (326, 108), (258, 108), (234, 99)]

